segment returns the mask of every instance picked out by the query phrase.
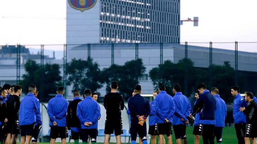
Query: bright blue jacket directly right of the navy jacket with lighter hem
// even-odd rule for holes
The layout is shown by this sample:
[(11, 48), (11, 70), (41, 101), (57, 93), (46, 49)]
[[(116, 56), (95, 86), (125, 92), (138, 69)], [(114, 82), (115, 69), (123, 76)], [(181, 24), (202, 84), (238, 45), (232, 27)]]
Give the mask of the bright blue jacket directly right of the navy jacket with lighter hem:
[(215, 127), (225, 127), (225, 118), (227, 116), (227, 106), (220, 95), (214, 95), (216, 99)]

